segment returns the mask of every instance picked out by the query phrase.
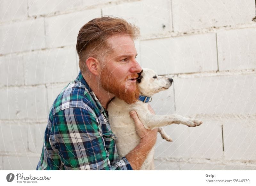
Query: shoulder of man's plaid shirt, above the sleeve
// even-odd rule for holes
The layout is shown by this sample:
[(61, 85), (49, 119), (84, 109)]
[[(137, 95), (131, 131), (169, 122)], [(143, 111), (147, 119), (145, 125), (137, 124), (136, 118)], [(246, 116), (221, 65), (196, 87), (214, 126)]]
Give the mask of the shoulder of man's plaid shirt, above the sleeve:
[(90, 94), (85, 85), (80, 81), (71, 81), (54, 100), (50, 109), (50, 115), (68, 108), (87, 108), (87, 103), (91, 101)]

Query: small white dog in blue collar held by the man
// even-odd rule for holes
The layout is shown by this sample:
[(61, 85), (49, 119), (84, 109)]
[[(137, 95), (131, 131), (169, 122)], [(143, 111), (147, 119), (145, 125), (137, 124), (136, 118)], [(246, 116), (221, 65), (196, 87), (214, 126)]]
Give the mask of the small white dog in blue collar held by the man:
[[(188, 127), (196, 127), (203, 122), (196, 119), (185, 118), (180, 115), (172, 114), (167, 116), (153, 115), (148, 110), (148, 101), (151, 96), (157, 92), (168, 89), (172, 85), (172, 79), (158, 76), (151, 69), (143, 69), (139, 74), (137, 83), (140, 88), (140, 100), (134, 104), (127, 104), (126, 102), (115, 97), (108, 105), (109, 123), (111, 130), (116, 134), (116, 147), (119, 154), (119, 158), (124, 157), (132, 149), (134, 149), (140, 142), (139, 136), (136, 134), (135, 124), (132, 118), (130, 118), (130, 111), (135, 110), (140, 118), (140, 121), (144, 124), (146, 129), (158, 128), (162, 138), (167, 141), (172, 139), (166, 135), (163, 126), (171, 125), (173, 123), (184, 124)], [(144, 161), (140, 170), (152, 170), (154, 149), (147, 154), (147, 159)]]

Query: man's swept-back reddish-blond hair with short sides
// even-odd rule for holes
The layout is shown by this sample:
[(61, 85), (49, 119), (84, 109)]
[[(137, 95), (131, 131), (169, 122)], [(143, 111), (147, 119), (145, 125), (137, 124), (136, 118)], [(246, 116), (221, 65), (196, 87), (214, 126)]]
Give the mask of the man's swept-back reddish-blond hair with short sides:
[(76, 50), (79, 68), (86, 71), (85, 61), (89, 57), (99, 58), (110, 46), (107, 39), (112, 35), (129, 35), (133, 40), (140, 34), (139, 28), (122, 18), (102, 16), (86, 23), (77, 36)]

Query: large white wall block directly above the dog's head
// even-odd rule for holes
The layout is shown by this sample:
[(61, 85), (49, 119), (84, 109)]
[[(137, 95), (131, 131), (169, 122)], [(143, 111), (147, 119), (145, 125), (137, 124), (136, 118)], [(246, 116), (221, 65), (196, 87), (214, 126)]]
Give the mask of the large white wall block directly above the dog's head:
[(141, 63), (158, 74), (217, 71), (214, 33), (141, 41)]

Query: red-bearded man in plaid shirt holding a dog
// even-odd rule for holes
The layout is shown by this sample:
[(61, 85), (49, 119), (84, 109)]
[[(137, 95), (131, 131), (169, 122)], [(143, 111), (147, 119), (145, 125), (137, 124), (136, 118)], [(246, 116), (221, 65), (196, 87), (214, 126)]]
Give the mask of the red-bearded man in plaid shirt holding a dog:
[[(157, 130), (143, 127), (131, 112), (140, 143), (118, 159), (116, 136), (108, 123), (108, 103), (115, 96), (127, 103), (139, 97), (134, 39), (137, 27), (104, 16), (79, 31), (76, 49), (80, 73), (55, 99), (36, 170), (136, 170), (156, 143)], [(138, 158), (140, 157), (140, 158)]]

